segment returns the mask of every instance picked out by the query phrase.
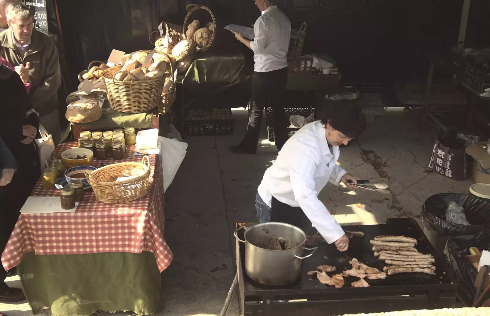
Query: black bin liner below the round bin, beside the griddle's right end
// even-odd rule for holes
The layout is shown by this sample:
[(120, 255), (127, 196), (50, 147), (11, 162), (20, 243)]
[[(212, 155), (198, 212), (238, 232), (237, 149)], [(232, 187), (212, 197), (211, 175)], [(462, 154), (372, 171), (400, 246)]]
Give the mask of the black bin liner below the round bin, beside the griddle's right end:
[(490, 238), (488, 235), (449, 237), (447, 249), (449, 252), (449, 263), (458, 280), (459, 292), (463, 293), (466, 301), (472, 302), (475, 298), (476, 288), (474, 286), (478, 271), (465, 257), (469, 255), (469, 248), (476, 247), (478, 250), (490, 250)]

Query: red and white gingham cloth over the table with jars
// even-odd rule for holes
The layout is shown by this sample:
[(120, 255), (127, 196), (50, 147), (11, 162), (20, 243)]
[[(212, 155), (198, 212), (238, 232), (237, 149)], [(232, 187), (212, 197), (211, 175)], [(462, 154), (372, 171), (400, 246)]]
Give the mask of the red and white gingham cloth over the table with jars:
[[(55, 157), (76, 143), (63, 143)], [(143, 156), (133, 156), (134, 146), (128, 146), (126, 161), (141, 162)], [(150, 158), (149, 192), (143, 198), (124, 205), (98, 202), (92, 189), (74, 213), (21, 214), (1, 256), (5, 270), (17, 266), (25, 253), (82, 254), (99, 252), (150, 251), (160, 272), (172, 262), (172, 251), (163, 237), (163, 170), (159, 155)], [(121, 162), (94, 159), (101, 167)], [(31, 196), (59, 196), (59, 190), (46, 189), (40, 179)]]

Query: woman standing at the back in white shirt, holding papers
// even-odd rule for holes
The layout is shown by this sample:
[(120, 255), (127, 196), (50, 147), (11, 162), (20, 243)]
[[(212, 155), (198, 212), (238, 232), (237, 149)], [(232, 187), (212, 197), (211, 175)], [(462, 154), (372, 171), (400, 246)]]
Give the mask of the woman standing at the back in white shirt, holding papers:
[(244, 140), (230, 150), (239, 154), (255, 154), (259, 141), (264, 108), (274, 114), (274, 134), (277, 149), (288, 140), (288, 118), (284, 113), (284, 91), (288, 82), (287, 54), (291, 37), (291, 22), (277, 8), (275, 0), (255, 0), (262, 12), (253, 26), (254, 39), (232, 31), (235, 37), (253, 51), (255, 62), (248, 126)]

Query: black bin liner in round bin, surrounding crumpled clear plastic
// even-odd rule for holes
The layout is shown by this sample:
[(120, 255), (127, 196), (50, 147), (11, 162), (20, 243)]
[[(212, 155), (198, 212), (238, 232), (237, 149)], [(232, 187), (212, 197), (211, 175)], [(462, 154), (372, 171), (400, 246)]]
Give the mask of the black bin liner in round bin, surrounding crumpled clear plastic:
[[(471, 225), (447, 222), (446, 209), (451, 201), (465, 210)], [(439, 193), (428, 198), (422, 205), (422, 223), (429, 230), (452, 237), (462, 235), (487, 235), (490, 237), (490, 203), (464, 193)]]

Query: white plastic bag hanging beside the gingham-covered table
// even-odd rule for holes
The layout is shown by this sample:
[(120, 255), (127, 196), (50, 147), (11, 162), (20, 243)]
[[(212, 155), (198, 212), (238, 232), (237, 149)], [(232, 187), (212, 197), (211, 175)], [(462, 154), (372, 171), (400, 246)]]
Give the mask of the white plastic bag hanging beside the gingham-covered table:
[(163, 192), (172, 184), (177, 170), (184, 160), (187, 153), (187, 143), (177, 139), (158, 137), (158, 143), (162, 149), (162, 168), (163, 168)]

